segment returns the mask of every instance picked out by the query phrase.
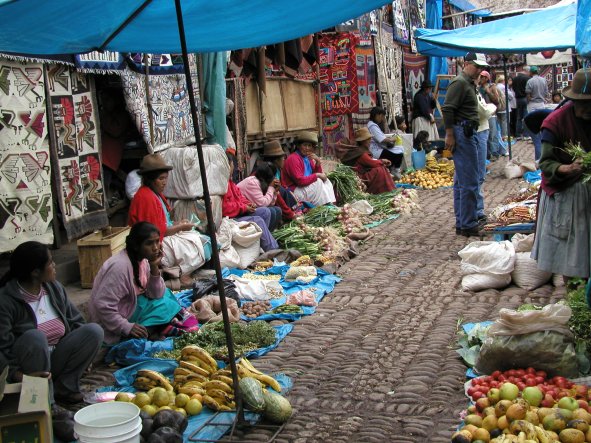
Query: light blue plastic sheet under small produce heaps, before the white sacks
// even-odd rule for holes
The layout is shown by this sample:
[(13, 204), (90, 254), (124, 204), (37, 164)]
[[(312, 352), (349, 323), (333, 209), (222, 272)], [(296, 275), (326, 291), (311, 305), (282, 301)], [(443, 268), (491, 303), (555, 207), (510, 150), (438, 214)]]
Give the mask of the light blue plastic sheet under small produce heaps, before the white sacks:
[[(320, 300), (322, 300), (326, 294), (332, 292), (334, 290), (335, 285), (341, 281), (341, 277), (338, 277), (333, 274), (329, 274), (328, 272), (326, 272), (320, 268), (317, 269), (318, 276), (309, 283), (301, 283), (298, 281), (286, 281), (284, 279), (284, 277), (285, 277), (285, 274), (289, 268), (290, 268), (289, 265), (276, 265), (276, 266), (273, 266), (273, 267), (267, 269), (265, 272), (256, 272), (255, 273), (255, 274), (260, 274), (260, 275), (269, 275), (269, 274), (278, 275), (279, 274), (282, 276), (281, 280), (279, 280), (279, 284), (283, 288), (283, 292), (285, 293), (285, 296), (281, 297), (281, 298), (275, 298), (275, 299), (269, 300), (269, 303), (271, 304), (271, 308), (276, 308), (277, 306), (284, 305), (286, 302), (287, 296), (289, 294), (293, 294), (294, 292), (298, 292), (298, 291), (302, 291), (302, 290), (308, 290), (308, 291), (314, 292), (314, 294), (316, 295), (316, 301), (320, 302)], [(248, 272), (248, 271), (245, 271), (242, 269), (224, 269), (223, 274), (224, 274), (224, 277), (227, 277), (229, 275), (242, 276), (246, 272)], [(252, 321), (252, 320), (270, 321), (270, 320), (278, 320), (278, 319), (298, 320), (298, 319), (302, 318), (304, 315), (312, 315), (314, 312), (316, 312), (316, 306), (302, 306), (301, 308), (303, 310), (302, 314), (271, 314), (271, 313), (269, 313), (269, 314), (260, 315), (257, 318), (248, 318), (244, 315), (241, 315), (240, 319), (245, 320), (245, 321)]]

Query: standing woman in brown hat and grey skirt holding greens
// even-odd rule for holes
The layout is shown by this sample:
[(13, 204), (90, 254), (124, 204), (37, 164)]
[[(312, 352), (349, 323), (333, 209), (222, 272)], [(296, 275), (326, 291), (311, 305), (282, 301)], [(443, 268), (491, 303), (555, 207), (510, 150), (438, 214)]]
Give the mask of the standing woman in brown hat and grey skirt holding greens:
[(538, 269), (565, 277), (589, 278), (591, 184), (581, 160), (564, 151), (579, 143), (591, 151), (591, 68), (579, 69), (563, 90), (569, 102), (542, 123), (542, 184), (532, 258)]

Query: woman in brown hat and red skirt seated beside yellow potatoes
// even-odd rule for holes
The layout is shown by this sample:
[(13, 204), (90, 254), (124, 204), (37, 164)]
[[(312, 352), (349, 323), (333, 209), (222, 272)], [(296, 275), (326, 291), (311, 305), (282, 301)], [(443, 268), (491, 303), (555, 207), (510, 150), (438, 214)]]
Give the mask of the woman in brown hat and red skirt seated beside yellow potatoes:
[(351, 166), (370, 194), (381, 194), (394, 189), (392, 175), (388, 171), (390, 161), (374, 160), (369, 153), (371, 133), (367, 128), (355, 131), (357, 146), (348, 149), (341, 158), (341, 163)]

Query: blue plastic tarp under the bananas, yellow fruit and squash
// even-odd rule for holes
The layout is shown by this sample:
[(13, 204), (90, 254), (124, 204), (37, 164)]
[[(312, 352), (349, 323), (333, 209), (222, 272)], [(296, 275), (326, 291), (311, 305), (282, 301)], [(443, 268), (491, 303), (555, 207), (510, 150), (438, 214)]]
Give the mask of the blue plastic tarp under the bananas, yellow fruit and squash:
[[(135, 375), (139, 369), (151, 369), (153, 371), (158, 371), (167, 377), (172, 377), (173, 372), (177, 366), (178, 364), (174, 360), (151, 360), (137, 363), (133, 366), (129, 366), (127, 368), (119, 369), (118, 371), (116, 371), (113, 374), (113, 376), (115, 377), (117, 386), (108, 386), (106, 388), (102, 388), (101, 391), (105, 392), (116, 390), (121, 392), (135, 392), (135, 388), (133, 387), (133, 381), (135, 380)], [(279, 382), (282, 394), (288, 392), (293, 386), (291, 378), (287, 375), (272, 375)], [(183, 433), (183, 440), (189, 441), (189, 437), (196, 430), (202, 427), (205, 424), (205, 422), (207, 422), (211, 417), (213, 417), (214, 414), (214, 411), (207, 407), (204, 407), (199, 415), (189, 417), (189, 424), (187, 426), (187, 429)], [(232, 420), (234, 420), (235, 417), (236, 414), (234, 412), (224, 412), (219, 414), (218, 417), (215, 418), (214, 423), (232, 423)], [(246, 412), (245, 418), (249, 420), (251, 423), (255, 423), (259, 420), (260, 415), (252, 412)], [(228, 426), (207, 426), (203, 428), (199, 432), (199, 434), (193, 436), (193, 438), (209, 439), (215, 441), (221, 438), (230, 427), (230, 424)]]

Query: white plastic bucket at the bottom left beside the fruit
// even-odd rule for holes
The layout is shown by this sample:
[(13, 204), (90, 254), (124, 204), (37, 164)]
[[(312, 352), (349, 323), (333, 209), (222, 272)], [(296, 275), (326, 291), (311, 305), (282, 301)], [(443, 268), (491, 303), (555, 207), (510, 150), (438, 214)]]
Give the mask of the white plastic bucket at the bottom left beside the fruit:
[(83, 443), (139, 443), (140, 408), (111, 401), (80, 409), (74, 415), (74, 432)]

